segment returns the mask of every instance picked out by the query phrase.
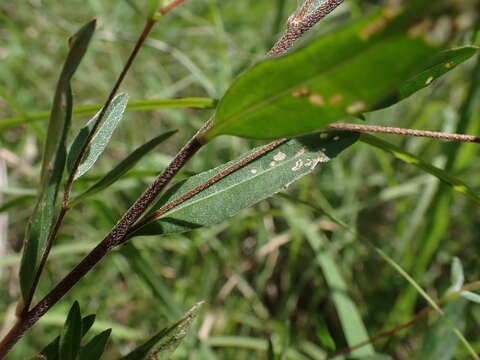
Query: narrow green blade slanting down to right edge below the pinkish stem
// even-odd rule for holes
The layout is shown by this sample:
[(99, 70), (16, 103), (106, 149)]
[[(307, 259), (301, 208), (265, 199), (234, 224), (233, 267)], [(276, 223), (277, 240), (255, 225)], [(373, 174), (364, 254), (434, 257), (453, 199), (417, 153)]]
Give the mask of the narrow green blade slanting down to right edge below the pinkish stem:
[(385, 140), (382, 140), (376, 136), (368, 135), (368, 134), (362, 134), (360, 136), (360, 141), (375, 146), (376, 148), (379, 148), (381, 150), (384, 150), (393, 156), (395, 156), (397, 159), (407, 163), (414, 165), (418, 167), (419, 169), (435, 176), (439, 180), (443, 181), (447, 185), (449, 185), (452, 190), (463, 194), (467, 196), (470, 200), (473, 200), (475, 203), (480, 204), (480, 195), (476, 193), (472, 188), (470, 188), (467, 184), (465, 184), (463, 181), (457, 179), (456, 177), (450, 175), (446, 171), (439, 169), (433, 165), (430, 165), (421, 159), (419, 159), (417, 156), (410, 154), (406, 151), (403, 151), (401, 148), (398, 146), (395, 146)]

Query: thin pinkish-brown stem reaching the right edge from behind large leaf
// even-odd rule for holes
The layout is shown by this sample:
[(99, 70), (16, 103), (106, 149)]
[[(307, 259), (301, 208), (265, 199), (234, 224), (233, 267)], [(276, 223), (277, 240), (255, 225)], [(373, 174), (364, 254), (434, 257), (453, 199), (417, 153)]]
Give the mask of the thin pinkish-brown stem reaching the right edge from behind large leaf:
[(374, 132), (374, 133), (395, 134), (395, 135), (404, 135), (404, 136), (421, 136), (421, 137), (428, 137), (433, 139), (442, 139), (442, 140), (449, 140), (449, 141), (480, 143), (480, 137), (477, 137), (477, 136), (463, 135), (463, 134), (449, 134), (449, 133), (442, 133), (438, 131), (414, 130), (414, 129), (405, 129), (405, 128), (388, 127), (388, 126), (344, 124), (344, 123), (330, 124), (328, 125), (328, 127), (330, 129), (356, 131), (356, 132)]

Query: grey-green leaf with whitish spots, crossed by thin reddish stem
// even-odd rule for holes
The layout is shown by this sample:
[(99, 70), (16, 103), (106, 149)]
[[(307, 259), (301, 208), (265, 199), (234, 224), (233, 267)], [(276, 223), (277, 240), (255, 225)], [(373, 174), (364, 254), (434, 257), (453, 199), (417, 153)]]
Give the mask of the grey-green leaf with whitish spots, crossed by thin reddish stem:
[[(289, 140), (177, 205), (134, 235), (170, 234), (217, 224), (285, 189), (312, 172), (319, 163), (337, 156), (357, 139), (358, 135), (351, 132), (328, 132)], [(259, 149), (180, 182), (160, 198), (153, 211), (250, 157)]]

